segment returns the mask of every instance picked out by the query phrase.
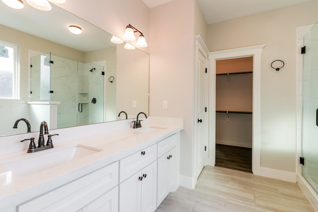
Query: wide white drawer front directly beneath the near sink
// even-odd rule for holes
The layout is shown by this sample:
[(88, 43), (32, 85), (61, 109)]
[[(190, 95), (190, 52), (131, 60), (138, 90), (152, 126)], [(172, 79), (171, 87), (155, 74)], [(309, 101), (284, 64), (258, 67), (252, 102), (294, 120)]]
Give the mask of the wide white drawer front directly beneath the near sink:
[(17, 206), (18, 212), (71, 212), (118, 185), (118, 162)]

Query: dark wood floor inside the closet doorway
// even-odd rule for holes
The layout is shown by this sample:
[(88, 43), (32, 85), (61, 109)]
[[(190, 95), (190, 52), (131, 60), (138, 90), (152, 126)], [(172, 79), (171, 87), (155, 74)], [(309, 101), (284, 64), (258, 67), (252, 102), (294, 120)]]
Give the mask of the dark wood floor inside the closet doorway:
[(252, 173), (252, 149), (216, 144), (215, 165)]

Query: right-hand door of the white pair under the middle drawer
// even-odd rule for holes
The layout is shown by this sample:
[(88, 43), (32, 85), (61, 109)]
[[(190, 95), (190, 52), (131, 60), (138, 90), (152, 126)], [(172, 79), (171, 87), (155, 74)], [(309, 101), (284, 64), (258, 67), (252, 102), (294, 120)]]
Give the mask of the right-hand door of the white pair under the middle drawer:
[(157, 161), (142, 170), (141, 212), (154, 212), (157, 209)]

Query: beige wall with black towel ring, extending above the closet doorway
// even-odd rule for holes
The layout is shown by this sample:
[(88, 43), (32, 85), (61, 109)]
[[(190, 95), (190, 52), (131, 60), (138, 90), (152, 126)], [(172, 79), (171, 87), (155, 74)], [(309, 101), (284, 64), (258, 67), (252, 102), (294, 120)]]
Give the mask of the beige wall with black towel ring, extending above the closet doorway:
[[(266, 45), (261, 55), (262, 167), (296, 172), (296, 28), (317, 22), (317, 8), (313, 0), (208, 26), (210, 52)], [(285, 67), (271, 69), (274, 60), (283, 60)]]

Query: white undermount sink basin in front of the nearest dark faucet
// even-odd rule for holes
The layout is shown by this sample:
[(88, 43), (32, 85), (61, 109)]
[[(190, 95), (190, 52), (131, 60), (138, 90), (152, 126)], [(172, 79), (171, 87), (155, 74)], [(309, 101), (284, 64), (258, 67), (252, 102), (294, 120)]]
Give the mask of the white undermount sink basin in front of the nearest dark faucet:
[(2, 162), (1, 165), (12, 172), (28, 176), (99, 151), (101, 149), (84, 145), (70, 146), (62, 149), (53, 148), (43, 152), (27, 153), (24, 157), (20, 157), (14, 161)]

